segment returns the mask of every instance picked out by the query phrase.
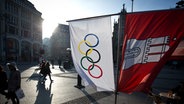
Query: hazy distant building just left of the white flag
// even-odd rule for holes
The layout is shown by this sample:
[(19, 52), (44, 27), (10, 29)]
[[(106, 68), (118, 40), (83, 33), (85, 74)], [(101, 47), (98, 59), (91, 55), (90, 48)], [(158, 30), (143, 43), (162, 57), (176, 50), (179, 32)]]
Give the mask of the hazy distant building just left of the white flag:
[(58, 24), (50, 39), (50, 52), (52, 59), (66, 60), (70, 56), (69, 26)]

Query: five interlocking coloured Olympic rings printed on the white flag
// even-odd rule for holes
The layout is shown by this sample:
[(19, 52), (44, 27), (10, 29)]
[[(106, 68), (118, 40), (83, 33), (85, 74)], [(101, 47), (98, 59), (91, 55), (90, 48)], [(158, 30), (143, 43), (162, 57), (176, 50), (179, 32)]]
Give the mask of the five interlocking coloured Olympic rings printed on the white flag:
[[(89, 41), (87, 41), (87, 37), (90, 36), (90, 35), (91, 35), (91, 36), (94, 36), (94, 37), (97, 39), (96, 44), (92, 45)], [(90, 39), (88, 39), (88, 40), (90, 40)], [(83, 51), (80, 49), (80, 47), (81, 47), (81, 45), (82, 45), (83, 43), (85, 43), (85, 44), (89, 47), (89, 49), (88, 49), (86, 52), (83, 52)], [(81, 67), (82, 67), (84, 70), (88, 71), (89, 75), (90, 75), (91, 77), (93, 77), (93, 78), (100, 78), (100, 77), (102, 77), (102, 75), (103, 75), (102, 68), (101, 68), (100, 66), (96, 65), (96, 63), (98, 63), (98, 62), (100, 61), (100, 59), (101, 59), (100, 52), (99, 52), (98, 50), (94, 49), (94, 47), (96, 47), (98, 44), (99, 44), (99, 39), (98, 39), (97, 35), (95, 35), (95, 34), (87, 34), (87, 35), (84, 37), (84, 40), (82, 40), (82, 41), (79, 43), (79, 45), (78, 45), (78, 50), (79, 50), (79, 52), (80, 52), (81, 54), (85, 55), (85, 56), (83, 56), (83, 57), (81, 58), (81, 60), (80, 60), (80, 65), (81, 65)], [(99, 56), (99, 58), (98, 58), (97, 60), (95, 60), (95, 61), (94, 61), (91, 57), (89, 57), (89, 55), (92, 53), (92, 51), (96, 51), (96, 53), (97, 53), (98, 56)], [(83, 65), (83, 60), (84, 60), (85, 58), (87, 59), (87, 61), (89, 61), (89, 62), (91, 63), (91, 64), (89, 65), (88, 68), (85, 68), (84, 65)], [(91, 70), (94, 69), (95, 66), (100, 70), (100, 75), (98, 75), (98, 76), (94, 76), (94, 75), (91, 74)]]

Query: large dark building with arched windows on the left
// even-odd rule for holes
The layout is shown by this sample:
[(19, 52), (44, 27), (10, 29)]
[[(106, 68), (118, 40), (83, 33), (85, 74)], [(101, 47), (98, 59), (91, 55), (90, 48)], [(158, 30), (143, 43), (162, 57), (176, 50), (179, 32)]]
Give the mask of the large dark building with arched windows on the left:
[(27, 0), (0, 1), (0, 62), (37, 61), (42, 46), (42, 17)]

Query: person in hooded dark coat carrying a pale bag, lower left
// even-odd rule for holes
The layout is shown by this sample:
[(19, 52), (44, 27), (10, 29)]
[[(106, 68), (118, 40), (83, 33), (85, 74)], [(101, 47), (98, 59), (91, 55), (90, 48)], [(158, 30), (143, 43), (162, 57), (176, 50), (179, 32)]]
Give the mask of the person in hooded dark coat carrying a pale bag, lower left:
[(7, 67), (10, 70), (8, 78), (8, 96), (13, 104), (19, 104), (19, 99), (15, 92), (21, 88), (21, 74), (15, 62), (7, 63)]

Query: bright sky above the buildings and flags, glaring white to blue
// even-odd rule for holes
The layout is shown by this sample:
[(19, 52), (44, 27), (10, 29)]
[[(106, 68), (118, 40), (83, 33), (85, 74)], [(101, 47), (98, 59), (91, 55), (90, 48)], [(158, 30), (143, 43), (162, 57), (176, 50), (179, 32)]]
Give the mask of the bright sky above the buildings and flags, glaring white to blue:
[[(58, 24), (68, 20), (119, 13), (125, 4), (131, 12), (132, 0), (29, 0), (42, 13), (43, 38), (50, 38)], [(133, 12), (170, 9), (180, 0), (134, 0)]]

